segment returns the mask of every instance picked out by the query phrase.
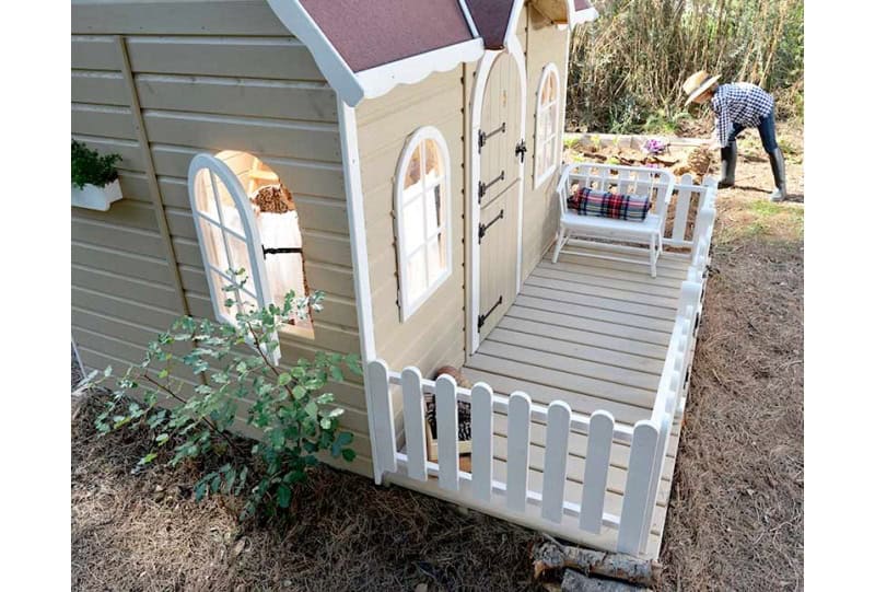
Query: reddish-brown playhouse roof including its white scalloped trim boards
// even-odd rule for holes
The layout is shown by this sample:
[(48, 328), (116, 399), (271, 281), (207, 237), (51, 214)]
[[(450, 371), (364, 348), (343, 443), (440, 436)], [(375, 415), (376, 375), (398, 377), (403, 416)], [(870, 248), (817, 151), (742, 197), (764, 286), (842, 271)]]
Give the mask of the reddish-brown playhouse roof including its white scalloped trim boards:
[[(479, 59), (505, 47), (524, 0), (267, 0), (280, 22), (313, 54), (350, 106), (397, 84)], [(586, 0), (559, 3), (568, 20), (595, 12)], [(587, 8), (579, 9), (579, 5)], [(565, 8), (567, 7), (567, 8)], [(581, 15), (581, 16), (579, 16)], [(594, 16), (593, 16), (594, 18)]]

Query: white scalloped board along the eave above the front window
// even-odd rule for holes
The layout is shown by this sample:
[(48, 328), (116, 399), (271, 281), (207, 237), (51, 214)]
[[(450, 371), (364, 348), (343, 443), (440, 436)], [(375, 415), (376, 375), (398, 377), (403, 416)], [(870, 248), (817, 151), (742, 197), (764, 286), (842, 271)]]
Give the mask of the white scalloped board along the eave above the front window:
[(483, 39), (478, 37), (362, 70), (355, 77), (364, 90), (364, 97), (373, 98), (398, 84), (416, 84), (429, 74), (446, 72), (459, 63), (478, 60), (482, 55)]

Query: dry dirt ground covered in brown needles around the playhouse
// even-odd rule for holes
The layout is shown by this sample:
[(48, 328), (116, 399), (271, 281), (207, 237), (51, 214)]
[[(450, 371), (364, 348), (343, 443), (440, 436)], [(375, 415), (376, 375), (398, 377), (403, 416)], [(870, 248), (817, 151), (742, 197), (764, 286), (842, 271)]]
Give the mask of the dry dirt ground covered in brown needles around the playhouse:
[[(793, 197), (773, 205), (748, 137), (737, 187), (718, 198), (662, 590), (803, 588), (802, 138), (779, 127)], [(74, 590), (539, 589), (537, 533), (329, 468), (291, 525), (241, 529), (233, 508), (192, 500), (190, 468), (131, 475), (143, 440), (97, 438), (96, 398), (72, 407)]]

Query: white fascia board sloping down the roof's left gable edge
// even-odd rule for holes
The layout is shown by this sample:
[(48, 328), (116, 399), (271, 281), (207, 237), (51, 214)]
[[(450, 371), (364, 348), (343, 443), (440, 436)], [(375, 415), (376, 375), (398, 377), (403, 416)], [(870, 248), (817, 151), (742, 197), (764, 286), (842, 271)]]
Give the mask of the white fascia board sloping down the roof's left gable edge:
[(267, 0), (270, 9), (292, 35), (307, 46), (328, 84), (347, 105), (358, 105), (364, 97), (359, 78), (323, 34), (298, 0)]

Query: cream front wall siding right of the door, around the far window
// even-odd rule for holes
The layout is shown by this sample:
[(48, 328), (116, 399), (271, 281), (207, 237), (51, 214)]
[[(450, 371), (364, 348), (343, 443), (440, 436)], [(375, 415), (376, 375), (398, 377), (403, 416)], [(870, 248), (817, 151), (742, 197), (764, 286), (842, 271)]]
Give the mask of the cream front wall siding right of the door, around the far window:
[[(556, 201), (556, 183), (559, 169), (535, 188), (535, 113), (538, 107), (538, 82), (544, 67), (550, 62), (559, 69), (559, 97), (565, 96), (568, 77), (567, 37), (568, 30), (560, 31), (550, 25), (541, 14), (527, 7), (520, 15), (517, 27), (520, 42), (526, 49), (526, 147), (524, 193), (523, 193), (523, 272), (525, 280), (553, 241), (559, 222), (559, 204)], [(563, 104), (563, 103), (562, 103)], [(560, 113), (560, 131), (564, 129), (564, 113)], [(561, 151), (560, 151), (561, 161)]]

